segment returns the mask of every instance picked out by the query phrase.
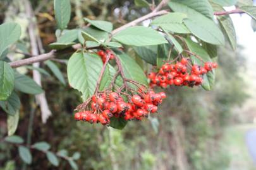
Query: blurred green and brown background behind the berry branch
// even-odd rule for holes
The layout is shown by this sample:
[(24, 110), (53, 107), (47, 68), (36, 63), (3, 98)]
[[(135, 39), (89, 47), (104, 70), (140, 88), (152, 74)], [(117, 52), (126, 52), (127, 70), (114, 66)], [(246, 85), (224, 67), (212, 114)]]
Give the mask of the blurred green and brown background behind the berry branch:
[[(47, 45), (55, 41), (53, 1), (30, 2), (37, 16), (44, 49), (48, 50)], [(69, 28), (83, 26), (82, 16), (108, 20), (118, 27), (149, 12), (125, 0), (71, 0), (71, 4)], [(29, 21), (24, 17), (22, 1), (1, 0), (0, 11), (0, 23), (10, 20), (20, 23), (24, 29), (23, 42), (29, 48), (25, 31)], [(233, 19), (236, 22), (236, 18)], [(245, 26), (252, 35), (240, 36), (255, 39), (250, 25)], [(253, 118), (256, 118), (256, 99), (253, 98), (256, 62), (252, 59), (255, 49), (248, 50), (243, 38), (239, 39), (238, 35), (240, 45), (236, 52), (229, 47), (219, 48), (219, 69), (212, 91), (168, 89), (169, 97), (158, 115), (142, 122), (130, 122), (122, 131), (75, 122), (72, 114), (81, 102), (80, 94), (54, 77), (44, 77), (43, 88), (53, 115), (43, 124), (39, 108), (34, 107), (34, 97), (20, 94), (22, 107), (16, 134), (27, 139), (28, 122), (34, 115), (32, 143), (46, 141), (51, 144), (52, 151), (80, 152), (79, 169), (255, 169), (245, 144), (245, 133), (255, 127)], [(68, 57), (68, 54), (63, 55), (61, 59)], [(59, 64), (59, 67), (66, 77), (66, 65)], [(21, 67), (20, 71), (27, 70)], [(6, 136), (6, 114), (1, 110), (0, 127), (3, 138)], [(0, 143), (0, 150), (0, 169), (21, 169), (23, 163), (13, 145)], [(53, 167), (41, 152), (32, 151), (32, 156), (32, 165), (26, 169), (70, 169), (65, 161)]]

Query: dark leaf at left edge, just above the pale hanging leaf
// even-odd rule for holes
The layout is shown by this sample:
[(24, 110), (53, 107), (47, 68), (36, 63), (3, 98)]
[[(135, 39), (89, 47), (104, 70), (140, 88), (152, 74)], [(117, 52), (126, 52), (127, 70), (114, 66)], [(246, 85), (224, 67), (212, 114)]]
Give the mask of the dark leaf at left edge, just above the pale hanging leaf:
[(13, 91), (7, 101), (0, 101), (0, 106), (6, 113), (13, 116), (20, 110), (20, 98), (15, 91)]

